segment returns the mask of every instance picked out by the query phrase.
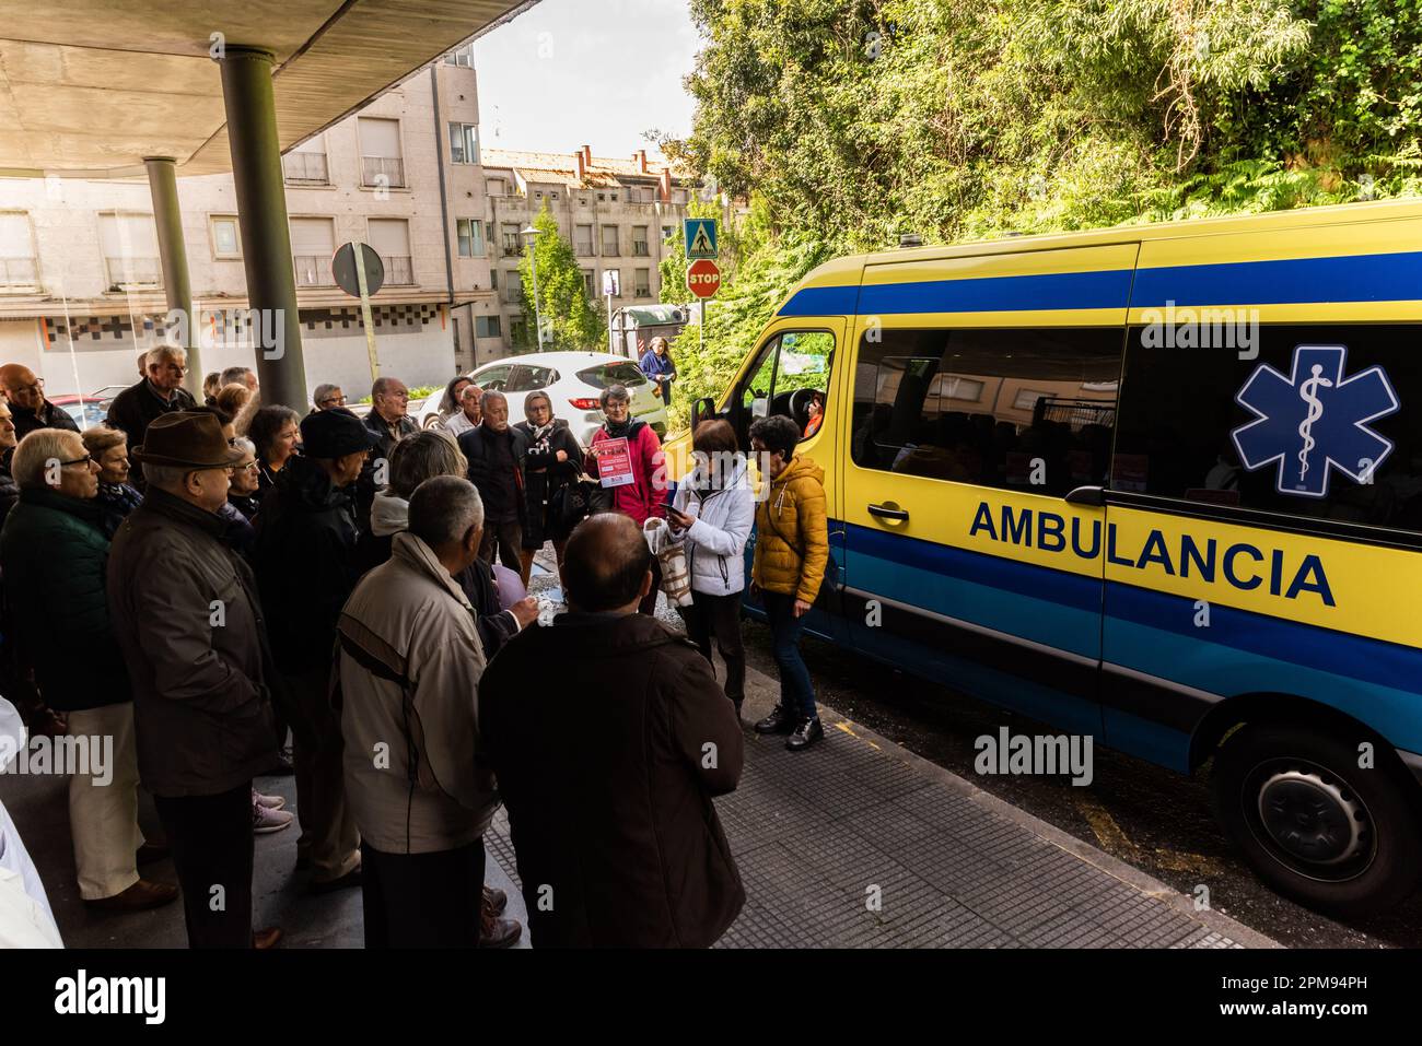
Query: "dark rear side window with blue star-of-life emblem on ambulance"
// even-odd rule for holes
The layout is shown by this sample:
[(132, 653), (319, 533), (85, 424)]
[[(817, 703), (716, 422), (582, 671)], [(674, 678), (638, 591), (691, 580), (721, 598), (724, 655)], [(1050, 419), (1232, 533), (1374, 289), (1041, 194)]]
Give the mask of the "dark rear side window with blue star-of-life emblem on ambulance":
[(1422, 327), (1234, 334), (1185, 348), (1128, 331), (1112, 489), (1422, 532)]

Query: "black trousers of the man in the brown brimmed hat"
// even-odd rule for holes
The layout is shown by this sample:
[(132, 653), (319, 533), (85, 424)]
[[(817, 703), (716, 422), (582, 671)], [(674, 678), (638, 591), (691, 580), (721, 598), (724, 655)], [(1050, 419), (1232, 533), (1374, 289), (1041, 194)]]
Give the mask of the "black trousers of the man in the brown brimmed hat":
[(154, 796), (182, 885), (189, 948), (252, 947), (252, 782), (215, 796)]

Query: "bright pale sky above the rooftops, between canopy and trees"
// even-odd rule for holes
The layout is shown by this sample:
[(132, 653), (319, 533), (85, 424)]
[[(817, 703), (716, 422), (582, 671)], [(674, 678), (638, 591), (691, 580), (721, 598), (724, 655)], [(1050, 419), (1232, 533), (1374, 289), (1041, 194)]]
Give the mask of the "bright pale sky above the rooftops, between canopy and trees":
[(483, 145), (630, 156), (651, 128), (685, 136), (698, 44), (685, 0), (542, 0), (475, 43)]

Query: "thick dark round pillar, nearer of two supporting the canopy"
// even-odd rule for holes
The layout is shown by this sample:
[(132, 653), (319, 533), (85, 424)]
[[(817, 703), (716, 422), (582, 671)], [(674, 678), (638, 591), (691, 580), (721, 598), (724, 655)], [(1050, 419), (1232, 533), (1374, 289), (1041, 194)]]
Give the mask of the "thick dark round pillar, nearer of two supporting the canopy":
[(232, 180), (237, 190), (242, 264), (253, 308), (262, 402), (303, 411), (307, 395), (301, 317), (296, 308), (272, 58), (272, 51), (260, 47), (229, 44), (220, 63), (222, 98), (228, 109)]

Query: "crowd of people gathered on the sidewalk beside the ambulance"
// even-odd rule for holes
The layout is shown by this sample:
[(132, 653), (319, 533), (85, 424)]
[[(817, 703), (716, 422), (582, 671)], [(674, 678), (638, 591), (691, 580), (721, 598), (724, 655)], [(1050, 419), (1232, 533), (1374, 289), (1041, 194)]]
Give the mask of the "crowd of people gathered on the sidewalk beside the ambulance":
[[(725, 931), (744, 891), (711, 799), (742, 766), (752, 529), (781, 676), (754, 729), (792, 750), (823, 736), (799, 654), (829, 559), (823, 472), (795, 422), (758, 421), (749, 448), (701, 422), (673, 493), (620, 385), (584, 448), (545, 392), (512, 424), (502, 392), (455, 378), (421, 431), (390, 377), (360, 418), (331, 384), (300, 414), (229, 368), (199, 405), (181, 348), (139, 365), (85, 432), (0, 367), (0, 692), (33, 732), (114, 743), (111, 780), (70, 779), (87, 904), (181, 897), (192, 947), (272, 947), (253, 837), (294, 820), (294, 870), (316, 894), (361, 888), (367, 947), (506, 947), (522, 927), (483, 850), (502, 804), (536, 945)], [(566, 613), (540, 624), (549, 544)], [(654, 615), (678, 574), (687, 638)], [(272, 773), (294, 773), (294, 816), (253, 787)], [(139, 874), (162, 857), (176, 887)]]

